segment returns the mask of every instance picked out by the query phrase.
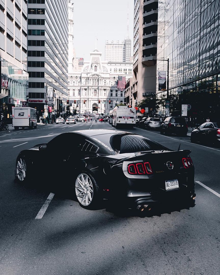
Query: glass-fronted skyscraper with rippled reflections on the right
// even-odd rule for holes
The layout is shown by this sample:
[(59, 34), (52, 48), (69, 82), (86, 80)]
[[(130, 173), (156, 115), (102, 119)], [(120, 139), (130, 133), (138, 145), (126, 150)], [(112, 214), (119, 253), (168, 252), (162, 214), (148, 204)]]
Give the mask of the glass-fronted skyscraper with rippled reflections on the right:
[[(169, 58), (171, 111), (181, 115), (181, 105), (188, 104), (188, 116), (198, 122), (217, 120), (220, 114), (219, 9), (219, 0), (158, 4), (157, 59)], [(166, 69), (166, 61), (157, 61), (157, 70)]]

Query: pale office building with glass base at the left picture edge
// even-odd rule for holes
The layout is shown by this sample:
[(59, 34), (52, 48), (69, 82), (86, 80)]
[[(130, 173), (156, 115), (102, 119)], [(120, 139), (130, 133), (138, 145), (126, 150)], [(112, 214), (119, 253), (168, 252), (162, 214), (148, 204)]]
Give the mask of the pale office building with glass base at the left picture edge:
[[(27, 1), (0, 1), (0, 113), (11, 119), (12, 106), (27, 95)], [(1, 118), (0, 118), (1, 120)]]

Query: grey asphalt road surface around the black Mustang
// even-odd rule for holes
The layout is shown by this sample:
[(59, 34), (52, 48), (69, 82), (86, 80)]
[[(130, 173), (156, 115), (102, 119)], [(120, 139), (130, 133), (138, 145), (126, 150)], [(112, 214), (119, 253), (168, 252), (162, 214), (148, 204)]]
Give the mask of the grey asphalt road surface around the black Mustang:
[[(111, 126), (50, 124), (0, 133), (0, 274), (219, 274), (220, 149), (191, 144), (189, 137), (128, 130), (171, 149), (177, 150), (181, 143), (180, 149), (192, 151), (195, 181), (216, 192), (196, 183), (195, 207), (139, 217), (133, 212), (118, 215), (108, 207), (85, 210), (63, 194), (55, 194), (42, 218), (35, 219), (51, 192), (44, 175), (58, 171), (56, 160), (48, 156), (36, 167), (36, 174), (42, 175), (40, 186), (23, 186), (14, 182), (18, 153), (60, 133), (89, 128)], [(68, 144), (60, 146), (68, 150)], [(48, 171), (48, 161), (54, 162), (54, 171)], [(62, 172), (64, 181), (67, 173), (71, 171)]]

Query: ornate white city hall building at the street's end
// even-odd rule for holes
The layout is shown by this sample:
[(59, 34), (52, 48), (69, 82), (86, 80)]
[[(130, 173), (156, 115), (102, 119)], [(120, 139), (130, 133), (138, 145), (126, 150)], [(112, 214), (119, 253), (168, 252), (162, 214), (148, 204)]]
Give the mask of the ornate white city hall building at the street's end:
[(81, 72), (68, 73), (71, 111), (76, 109), (77, 113), (82, 114), (87, 112), (108, 114), (116, 104), (124, 102), (124, 93), (117, 89), (115, 81), (118, 75), (125, 76), (126, 80), (129, 79), (133, 63), (102, 62), (101, 55), (102, 53), (95, 49), (90, 52), (90, 61), (84, 62)]

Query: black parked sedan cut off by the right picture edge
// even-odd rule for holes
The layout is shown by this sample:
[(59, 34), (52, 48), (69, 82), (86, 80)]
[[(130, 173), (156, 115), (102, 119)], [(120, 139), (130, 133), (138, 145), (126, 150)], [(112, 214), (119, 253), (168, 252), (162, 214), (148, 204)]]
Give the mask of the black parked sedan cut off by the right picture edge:
[(219, 143), (220, 122), (205, 122), (191, 133), (191, 142)]

